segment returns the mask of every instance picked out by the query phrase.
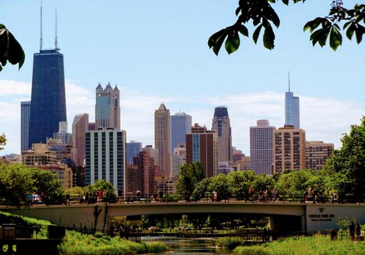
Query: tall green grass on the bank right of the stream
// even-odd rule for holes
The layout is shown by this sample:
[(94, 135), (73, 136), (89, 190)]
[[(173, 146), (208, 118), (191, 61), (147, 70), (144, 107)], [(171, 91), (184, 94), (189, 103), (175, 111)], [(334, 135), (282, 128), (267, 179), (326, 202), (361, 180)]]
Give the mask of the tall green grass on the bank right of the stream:
[(240, 255), (361, 255), (365, 254), (363, 242), (350, 240), (331, 241), (329, 237), (292, 237), (258, 246), (239, 246), (234, 254)]

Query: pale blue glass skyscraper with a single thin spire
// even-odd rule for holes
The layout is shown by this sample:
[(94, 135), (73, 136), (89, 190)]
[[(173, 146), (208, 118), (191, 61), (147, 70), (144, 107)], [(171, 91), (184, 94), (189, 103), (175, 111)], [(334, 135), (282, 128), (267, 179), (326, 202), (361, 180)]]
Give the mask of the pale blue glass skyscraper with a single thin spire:
[(285, 125), (293, 125), (295, 129), (300, 129), (300, 115), (299, 115), (299, 96), (294, 96), (289, 91), (285, 92)]

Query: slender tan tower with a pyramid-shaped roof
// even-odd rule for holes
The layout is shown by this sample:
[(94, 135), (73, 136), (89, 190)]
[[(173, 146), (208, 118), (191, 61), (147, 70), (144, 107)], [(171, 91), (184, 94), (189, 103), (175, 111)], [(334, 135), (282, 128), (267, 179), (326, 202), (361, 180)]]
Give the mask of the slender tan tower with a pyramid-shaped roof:
[(170, 110), (161, 104), (154, 112), (154, 147), (158, 149), (158, 165), (168, 178), (171, 153)]

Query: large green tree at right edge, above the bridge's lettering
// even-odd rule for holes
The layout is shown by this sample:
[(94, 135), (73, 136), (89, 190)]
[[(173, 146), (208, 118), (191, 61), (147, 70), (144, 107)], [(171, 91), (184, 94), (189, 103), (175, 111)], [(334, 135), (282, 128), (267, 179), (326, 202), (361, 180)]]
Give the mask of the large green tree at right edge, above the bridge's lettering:
[(334, 150), (326, 163), (331, 183), (340, 198), (363, 201), (365, 198), (365, 116), (359, 125), (341, 138), (342, 147)]

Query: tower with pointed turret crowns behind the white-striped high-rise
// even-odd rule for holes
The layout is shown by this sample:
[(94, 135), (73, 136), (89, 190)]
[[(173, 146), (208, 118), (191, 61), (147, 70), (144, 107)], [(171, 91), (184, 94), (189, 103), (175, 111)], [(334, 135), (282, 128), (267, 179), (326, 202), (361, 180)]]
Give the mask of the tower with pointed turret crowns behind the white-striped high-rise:
[(120, 130), (120, 93), (117, 85), (113, 89), (108, 83), (103, 89), (99, 83), (96, 87), (95, 122), (96, 129), (111, 127)]

